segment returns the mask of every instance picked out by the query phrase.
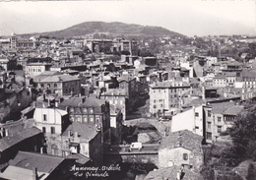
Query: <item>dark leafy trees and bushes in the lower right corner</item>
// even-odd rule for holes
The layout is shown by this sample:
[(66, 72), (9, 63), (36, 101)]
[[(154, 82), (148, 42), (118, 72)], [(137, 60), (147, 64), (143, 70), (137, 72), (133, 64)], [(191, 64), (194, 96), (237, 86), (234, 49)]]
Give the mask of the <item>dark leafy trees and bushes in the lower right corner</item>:
[[(201, 173), (205, 179), (214, 179), (216, 167), (231, 169), (247, 159), (256, 161), (256, 104), (253, 101), (244, 104), (244, 111), (225, 134), (232, 138), (231, 143), (216, 143), (204, 148), (205, 163)], [(255, 173), (251, 169), (248, 171), (249, 176)]]

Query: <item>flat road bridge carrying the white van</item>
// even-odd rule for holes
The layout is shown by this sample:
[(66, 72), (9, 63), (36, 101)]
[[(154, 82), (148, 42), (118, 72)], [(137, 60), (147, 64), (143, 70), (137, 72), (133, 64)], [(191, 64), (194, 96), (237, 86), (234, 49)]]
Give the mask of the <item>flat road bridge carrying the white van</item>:
[(160, 144), (142, 144), (142, 149), (130, 150), (130, 145), (109, 145), (103, 149), (104, 154), (134, 155), (134, 154), (158, 154)]

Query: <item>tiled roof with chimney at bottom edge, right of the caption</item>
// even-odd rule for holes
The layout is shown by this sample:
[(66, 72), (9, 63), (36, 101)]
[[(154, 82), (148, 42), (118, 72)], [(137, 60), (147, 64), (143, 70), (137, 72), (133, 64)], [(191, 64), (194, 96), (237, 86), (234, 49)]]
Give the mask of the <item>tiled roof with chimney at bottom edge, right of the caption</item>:
[[(165, 168), (160, 168), (158, 170), (151, 171), (144, 180), (177, 180), (177, 173), (180, 172), (180, 166), (170, 166)], [(183, 168), (183, 178), (182, 180), (203, 180), (200, 173), (193, 172), (189, 169)]]

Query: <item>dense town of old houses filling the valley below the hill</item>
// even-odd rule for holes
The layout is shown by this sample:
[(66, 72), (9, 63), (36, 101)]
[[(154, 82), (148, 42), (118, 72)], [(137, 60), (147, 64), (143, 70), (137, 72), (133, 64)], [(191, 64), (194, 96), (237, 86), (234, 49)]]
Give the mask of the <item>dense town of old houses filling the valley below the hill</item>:
[(256, 36), (10, 32), (0, 68), (0, 179), (253, 176)]

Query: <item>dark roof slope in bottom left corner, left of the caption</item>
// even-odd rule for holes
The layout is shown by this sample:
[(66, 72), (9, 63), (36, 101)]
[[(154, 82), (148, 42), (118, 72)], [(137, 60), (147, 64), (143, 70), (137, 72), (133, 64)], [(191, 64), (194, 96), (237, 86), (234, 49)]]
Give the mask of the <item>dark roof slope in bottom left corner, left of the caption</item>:
[(31, 170), (36, 167), (39, 172), (51, 173), (64, 159), (65, 157), (46, 153), (19, 151), (9, 163), (10, 165)]

